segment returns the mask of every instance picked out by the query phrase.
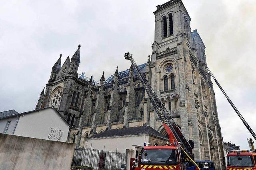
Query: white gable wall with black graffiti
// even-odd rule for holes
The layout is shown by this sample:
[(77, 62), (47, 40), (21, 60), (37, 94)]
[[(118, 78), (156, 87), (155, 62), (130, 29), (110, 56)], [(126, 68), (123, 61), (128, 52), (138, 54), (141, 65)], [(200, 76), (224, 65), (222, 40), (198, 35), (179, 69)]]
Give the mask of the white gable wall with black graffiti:
[(20, 116), (14, 135), (66, 142), (69, 127), (52, 108)]

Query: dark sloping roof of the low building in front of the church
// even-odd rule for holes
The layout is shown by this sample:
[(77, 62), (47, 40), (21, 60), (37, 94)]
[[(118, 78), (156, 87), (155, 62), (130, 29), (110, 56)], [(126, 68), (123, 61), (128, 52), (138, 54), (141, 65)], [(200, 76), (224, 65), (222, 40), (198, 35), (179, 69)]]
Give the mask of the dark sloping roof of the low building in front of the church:
[(102, 133), (98, 133), (89, 137), (88, 139), (95, 139), (95, 138), (103, 138), (103, 137), (118, 137), (118, 136), (128, 136), (128, 135), (144, 135), (149, 134), (154, 137), (158, 137), (164, 140), (169, 140), (164, 135), (156, 131), (150, 126), (139, 126), (139, 127), (128, 127), (122, 129), (111, 129), (108, 131), (104, 131)]

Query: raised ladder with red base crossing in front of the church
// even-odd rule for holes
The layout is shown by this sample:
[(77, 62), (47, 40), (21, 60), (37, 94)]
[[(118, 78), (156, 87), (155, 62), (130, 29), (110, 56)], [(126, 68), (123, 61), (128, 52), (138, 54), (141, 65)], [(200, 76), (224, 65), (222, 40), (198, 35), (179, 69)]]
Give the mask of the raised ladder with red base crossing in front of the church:
[[(162, 121), (164, 128), (166, 129), (170, 142), (174, 146), (181, 146), (182, 150), (184, 150), (188, 155), (188, 157), (193, 158), (192, 149), (194, 148), (194, 142), (192, 140), (187, 141), (184, 135), (182, 134), (180, 128), (175, 123), (174, 119), (165, 108), (164, 104), (160, 101), (156, 93), (154, 92), (153, 88), (151, 87), (148, 80), (145, 78), (144, 74), (138, 68), (138, 65), (135, 63), (134, 59), (132, 58), (132, 54), (125, 53), (125, 59), (130, 60), (134, 70), (138, 72), (138, 76), (140, 81), (142, 82), (148, 97), (150, 98), (150, 102), (152, 103), (158, 117)], [(186, 154), (185, 153), (185, 154)], [(186, 157), (186, 156), (185, 156)]]

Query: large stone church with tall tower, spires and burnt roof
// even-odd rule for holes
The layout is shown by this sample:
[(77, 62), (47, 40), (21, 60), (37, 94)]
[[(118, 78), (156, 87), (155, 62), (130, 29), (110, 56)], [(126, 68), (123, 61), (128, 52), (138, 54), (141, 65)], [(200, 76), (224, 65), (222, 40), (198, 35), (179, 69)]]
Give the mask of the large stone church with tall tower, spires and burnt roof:
[[(139, 65), (187, 140), (195, 142), (196, 160), (213, 160), (224, 169), (222, 135), (215, 94), (204, 64), (205, 46), (181, 0), (158, 5), (151, 59)], [(204, 64), (202, 64), (204, 63)], [(108, 129), (150, 125), (167, 135), (137, 72), (129, 68), (100, 83), (78, 76), (80, 45), (61, 65), (52, 67), (36, 109), (54, 106), (70, 123), (69, 142), (84, 147), (87, 137)]]

